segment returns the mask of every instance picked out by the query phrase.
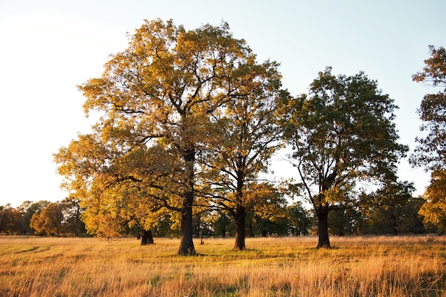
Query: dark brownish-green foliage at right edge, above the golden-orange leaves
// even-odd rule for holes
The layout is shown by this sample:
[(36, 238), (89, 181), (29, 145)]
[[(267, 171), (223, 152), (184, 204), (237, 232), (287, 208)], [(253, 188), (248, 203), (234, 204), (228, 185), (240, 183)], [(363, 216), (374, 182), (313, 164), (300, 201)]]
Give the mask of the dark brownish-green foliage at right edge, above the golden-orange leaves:
[[(425, 137), (416, 137), (419, 145), (410, 156), (414, 166), (426, 170), (446, 169), (446, 50), (429, 46), (431, 57), (425, 60), (425, 68), (413, 75), (416, 82), (427, 83), (440, 90), (427, 94), (422, 99), (418, 114), (423, 121), (420, 130), (427, 132)], [(444, 89), (443, 89), (444, 88)]]

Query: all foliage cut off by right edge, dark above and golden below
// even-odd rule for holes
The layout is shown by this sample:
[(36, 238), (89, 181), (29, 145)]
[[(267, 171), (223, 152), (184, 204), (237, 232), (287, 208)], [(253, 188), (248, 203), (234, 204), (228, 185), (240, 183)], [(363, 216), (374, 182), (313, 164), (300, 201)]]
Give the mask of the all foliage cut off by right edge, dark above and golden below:
[(446, 228), (445, 172), (446, 172), (446, 50), (443, 47), (429, 46), (430, 58), (425, 60), (421, 72), (413, 75), (416, 82), (427, 83), (440, 90), (422, 99), (418, 114), (423, 121), (420, 130), (427, 132), (425, 137), (416, 137), (418, 146), (410, 156), (413, 166), (432, 170), (430, 185), (423, 197), (425, 205), (420, 214), (425, 223), (432, 223), (440, 231)]

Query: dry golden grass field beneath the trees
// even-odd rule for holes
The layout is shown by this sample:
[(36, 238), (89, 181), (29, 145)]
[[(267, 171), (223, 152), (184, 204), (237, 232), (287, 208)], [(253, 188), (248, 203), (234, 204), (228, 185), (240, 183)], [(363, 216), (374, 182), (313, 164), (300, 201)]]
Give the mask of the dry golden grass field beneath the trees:
[[(446, 238), (178, 239), (0, 236), (0, 296), (446, 296)], [(442, 293), (443, 292), (443, 293)], [(443, 294), (443, 295), (442, 295)]]

